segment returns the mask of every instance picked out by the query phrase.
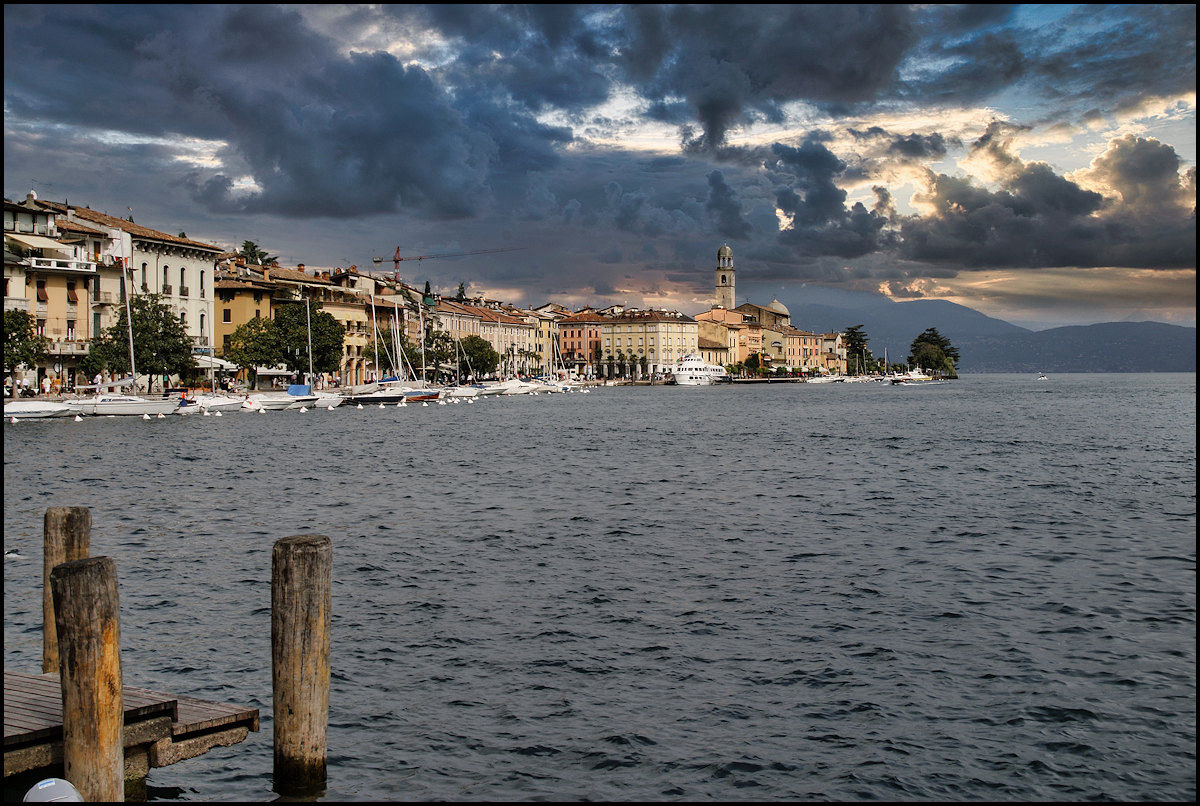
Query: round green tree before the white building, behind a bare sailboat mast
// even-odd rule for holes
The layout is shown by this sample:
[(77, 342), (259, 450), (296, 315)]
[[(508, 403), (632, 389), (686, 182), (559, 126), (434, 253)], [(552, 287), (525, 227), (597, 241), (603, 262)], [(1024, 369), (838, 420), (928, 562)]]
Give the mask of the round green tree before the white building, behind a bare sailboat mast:
[[(137, 294), (130, 297), (133, 315), (133, 361), (137, 371), (149, 375), (148, 389), (155, 378), (182, 375), (196, 368), (192, 337), (174, 308), (160, 294)], [(96, 344), (108, 367), (116, 373), (130, 372), (128, 318), (120, 308), (116, 323), (104, 331)]]

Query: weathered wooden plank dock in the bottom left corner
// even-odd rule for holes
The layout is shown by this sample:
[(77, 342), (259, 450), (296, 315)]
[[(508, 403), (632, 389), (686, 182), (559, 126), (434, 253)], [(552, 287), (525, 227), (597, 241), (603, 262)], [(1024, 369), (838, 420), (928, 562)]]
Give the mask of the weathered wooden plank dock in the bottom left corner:
[[(124, 686), (125, 777), (227, 747), (258, 730), (258, 709)], [(56, 674), (4, 673), (4, 775), (62, 765), (62, 690)]]

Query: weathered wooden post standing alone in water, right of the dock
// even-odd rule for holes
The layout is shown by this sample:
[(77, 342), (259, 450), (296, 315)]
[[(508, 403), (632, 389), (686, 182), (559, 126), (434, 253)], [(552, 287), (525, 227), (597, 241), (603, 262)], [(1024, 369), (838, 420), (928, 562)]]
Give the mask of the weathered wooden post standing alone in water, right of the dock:
[(325, 783), (334, 553), (324, 535), (295, 535), (271, 554), (275, 790)]

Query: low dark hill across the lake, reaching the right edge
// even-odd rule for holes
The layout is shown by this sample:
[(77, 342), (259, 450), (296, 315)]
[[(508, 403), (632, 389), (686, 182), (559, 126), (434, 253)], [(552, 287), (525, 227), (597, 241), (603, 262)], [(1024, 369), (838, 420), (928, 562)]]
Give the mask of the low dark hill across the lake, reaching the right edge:
[(1195, 372), (1196, 329), (1110, 321), (1036, 333), (950, 338), (965, 372)]

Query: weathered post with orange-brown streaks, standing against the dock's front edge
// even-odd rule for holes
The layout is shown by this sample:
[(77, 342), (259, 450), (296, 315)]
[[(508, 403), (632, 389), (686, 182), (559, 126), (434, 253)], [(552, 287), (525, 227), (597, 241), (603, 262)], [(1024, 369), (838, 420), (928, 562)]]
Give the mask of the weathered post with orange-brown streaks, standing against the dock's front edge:
[(116, 564), (97, 557), (50, 571), (62, 685), (62, 769), (85, 801), (125, 800)]

